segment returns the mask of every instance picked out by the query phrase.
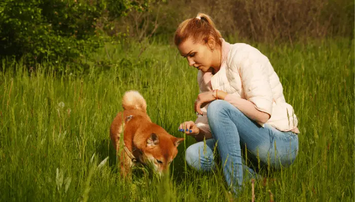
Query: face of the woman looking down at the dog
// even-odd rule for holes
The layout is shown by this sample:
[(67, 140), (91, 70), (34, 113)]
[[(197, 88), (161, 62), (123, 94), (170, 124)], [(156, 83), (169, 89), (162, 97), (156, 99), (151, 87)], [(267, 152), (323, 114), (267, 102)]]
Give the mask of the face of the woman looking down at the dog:
[(179, 49), (181, 56), (187, 58), (189, 66), (193, 66), (202, 72), (207, 72), (212, 67), (214, 57), (207, 43), (193, 43), (189, 38), (177, 46), (177, 49)]

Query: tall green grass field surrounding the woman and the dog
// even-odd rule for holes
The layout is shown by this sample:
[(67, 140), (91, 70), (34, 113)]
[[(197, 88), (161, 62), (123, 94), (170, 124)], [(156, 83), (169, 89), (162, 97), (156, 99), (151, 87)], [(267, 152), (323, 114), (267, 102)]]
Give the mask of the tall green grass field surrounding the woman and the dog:
[[(253, 45), (269, 57), (301, 131), (295, 163), (269, 174), (262, 170), (256, 200), (269, 201), (270, 190), (275, 201), (353, 201), (354, 41)], [(179, 146), (169, 178), (139, 171), (132, 182), (120, 178), (109, 127), (126, 90), (143, 94), (152, 121), (174, 136), (184, 136), (177, 131), (180, 123), (196, 119), (197, 71), (172, 46), (154, 42), (140, 53), (141, 46), (108, 45), (93, 58), (109, 58), (112, 68), (92, 66), (86, 76), (55, 75), (49, 63), (35, 73), (3, 63), (1, 201), (230, 199), (220, 171), (199, 173), (186, 165), (184, 151), (195, 142), (189, 136)], [(235, 200), (251, 198), (251, 183), (245, 182)]]

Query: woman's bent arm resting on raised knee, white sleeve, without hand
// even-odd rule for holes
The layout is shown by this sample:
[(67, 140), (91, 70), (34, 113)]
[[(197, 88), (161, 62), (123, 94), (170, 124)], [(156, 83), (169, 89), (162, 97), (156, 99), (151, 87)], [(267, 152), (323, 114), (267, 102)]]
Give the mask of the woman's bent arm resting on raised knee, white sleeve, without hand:
[(222, 93), (229, 103), (233, 103), (245, 116), (263, 126), (273, 109), (273, 95), (269, 81), (269, 60), (258, 49), (250, 45), (242, 45), (230, 53), (229, 72), (237, 73), (244, 90), (245, 99), (234, 94)]

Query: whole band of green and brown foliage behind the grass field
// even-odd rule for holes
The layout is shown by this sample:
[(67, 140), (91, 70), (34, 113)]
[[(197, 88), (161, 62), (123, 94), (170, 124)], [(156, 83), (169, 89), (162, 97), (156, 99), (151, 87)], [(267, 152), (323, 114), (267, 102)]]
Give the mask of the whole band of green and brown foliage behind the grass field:
[(223, 37), (244, 41), (292, 45), (352, 39), (353, 8), (353, 1), (341, 0), (3, 0), (0, 57), (21, 59), (28, 68), (45, 60), (87, 72), (90, 54), (105, 43), (159, 39), (171, 44), (177, 25), (199, 11), (214, 19)]

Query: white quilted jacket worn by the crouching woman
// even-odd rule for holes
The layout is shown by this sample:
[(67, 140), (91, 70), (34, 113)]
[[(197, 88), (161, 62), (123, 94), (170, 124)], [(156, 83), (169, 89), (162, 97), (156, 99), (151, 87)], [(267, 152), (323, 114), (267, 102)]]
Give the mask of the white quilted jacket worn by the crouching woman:
[[(200, 93), (223, 90), (228, 93), (225, 100), (232, 105), (235, 98), (247, 99), (256, 109), (271, 115), (266, 124), (280, 131), (295, 129), (298, 120), (294, 109), (286, 103), (282, 85), (268, 58), (251, 45), (230, 44), (222, 38), (221, 40), (221, 68), (215, 75), (198, 72)], [(201, 109), (203, 116), (199, 116), (195, 123), (200, 130), (210, 133), (207, 108), (208, 105)], [(258, 124), (264, 127), (263, 123)]]

